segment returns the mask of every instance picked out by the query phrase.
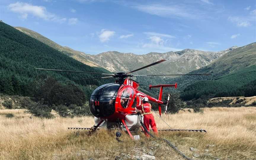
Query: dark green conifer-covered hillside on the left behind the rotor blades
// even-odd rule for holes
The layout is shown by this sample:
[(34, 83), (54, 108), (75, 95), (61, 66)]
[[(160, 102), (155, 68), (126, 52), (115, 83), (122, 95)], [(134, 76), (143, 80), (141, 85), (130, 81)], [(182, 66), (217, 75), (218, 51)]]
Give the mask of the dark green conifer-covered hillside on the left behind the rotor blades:
[[(97, 77), (92, 74), (39, 71), (52, 68), (74, 71), (109, 73), (103, 68), (90, 67), (58, 50), (0, 22), (0, 92), (9, 95), (31, 96), (49, 76), (57, 80)], [(101, 85), (114, 79), (76, 81), (80, 88), (92, 92), (87, 84)], [(89, 94), (88, 94), (89, 95)], [(87, 98), (88, 98), (87, 95)]]

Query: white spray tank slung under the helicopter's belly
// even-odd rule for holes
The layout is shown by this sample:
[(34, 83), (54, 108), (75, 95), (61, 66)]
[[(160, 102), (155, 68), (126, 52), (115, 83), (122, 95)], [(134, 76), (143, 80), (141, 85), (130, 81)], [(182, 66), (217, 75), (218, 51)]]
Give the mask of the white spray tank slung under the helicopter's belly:
[[(101, 125), (99, 126), (100, 128), (105, 128), (105, 129), (118, 128), (118, 124), (115, 122), (109, 122), (107, 119), (101, 119), (101, 118), (94, 117), (94, 121), (96, 124), (100, 123), (100, 120), (104, 120), (104, 122), (101, 123)], [(143, 116), (142, 116), (142, 120), (143, 120)], [(140, 119), (139, 119), (138, 115), (126, 115), (124, 121), (125, 121), (128, 129), (131, 131), (136, 130), (141, 127)], [(124, 127), (124, 125), (122, 125), (122, 130), (126, 131), (126, 128)]]

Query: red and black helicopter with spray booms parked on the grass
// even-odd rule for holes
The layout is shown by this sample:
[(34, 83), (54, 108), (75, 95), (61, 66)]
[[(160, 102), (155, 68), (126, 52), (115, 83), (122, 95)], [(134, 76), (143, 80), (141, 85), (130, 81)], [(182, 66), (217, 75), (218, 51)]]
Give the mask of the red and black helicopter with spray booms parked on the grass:
[[(132, 75), (133, 72), (139, 71), (141, 69), (156, 65), (158, 63), (164, 62), (166, 60), (160, 60), (155, 63), (149, 64), (147, 66), (135, 69), (133, 71), (116, 74), (106, 74), (106, 73), (95, 73), (95, 72), (83, 72), (83, 71), (67, 71), (67, 70), (57, 70), (57, 69), (44, 69), (36, 68), (39, 70), (48, 71), (65, 71), (65, 72), (77, 72), (77, 73), (87, 73), (87, 74), (100, 74), (106, 75), (98, 78), (90, 79), (107, 79), (107, 78), (117, 78), (115, 83), (103, 84), (99, 86), (91, 95), (89, 101), (89, 108), (92, 115), (95, 116), (95, 125), (92, 128), (68, 128), (68, 129), (89, 129), (90, 132), (94, 132), (98, 127), (113, 128), (113, 126), (122, 128), (127, 131), (130, 137), (133, 139), (131, 131), (141, 128), (139, 117), (136, 114), (136, 107), (141, 105), (142, 99), (148, 97), (150, 102), (158, 104), (159, 115), (161, 116), (161, 105), (166, 104), (162, 101), (162, 93), (164, 87), (175, 87), (177, 88), (177, 83), (175, 84), (160, 84), (156, 86), (149, 86), (151, 88), (160, 88), (158, 99), (153, 98), (138, 89), (139, 84), (135, 80), (131, 79), (133, 76), (180, 76), (180, 75), (209, 75), (209, 74), (162, 74), (162, 75)], [(89, 79), (78, 79), (70, 81), (80, 81)], [(59, 81), (68, 82), (68, 81)], [(181, 131), (183, 129), (164, 129), (171, 131)], [(186, 131), (196, 131), (196, 132), (206, 132), (203, 129), (199, 130), (186, 130)]]

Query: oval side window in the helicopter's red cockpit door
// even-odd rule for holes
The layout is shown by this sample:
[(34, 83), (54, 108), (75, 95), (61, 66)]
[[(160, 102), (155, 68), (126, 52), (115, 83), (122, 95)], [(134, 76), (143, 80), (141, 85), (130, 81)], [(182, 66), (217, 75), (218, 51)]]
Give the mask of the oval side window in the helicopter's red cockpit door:
[(127, 88), (123, 91), (123, 93), (121, 94), (121, 106), (123, 108), (127, 108), (131, 103), (133, 103), (132, 101), (132, 97), (134, 95), (134, 91), (132, 88)]

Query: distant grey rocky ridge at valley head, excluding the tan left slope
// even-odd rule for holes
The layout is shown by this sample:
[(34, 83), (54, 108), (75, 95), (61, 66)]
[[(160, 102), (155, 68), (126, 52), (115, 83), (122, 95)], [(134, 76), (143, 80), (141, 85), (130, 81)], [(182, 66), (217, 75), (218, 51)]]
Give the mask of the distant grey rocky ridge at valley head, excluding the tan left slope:
[(186, 74), (190, 71), (207, 66), (212, 61), (215, 61), (220, 56), (235, 48), (237, 47), (234, 46), (220, 52), (185, 49), (166, 53), (151, 52), (145, 55), (108, 51), (97, 55), (86, 54), (84, 57), (94, 62), (94, 65), (103, 67), (112, 72), (127, 72), (139, 68), (140, 66), (166, 59), (167, 61), (148, 68), (147, 71), (141, 71), (140, 73), (159, 74), (160, 71), (161, 74)]

